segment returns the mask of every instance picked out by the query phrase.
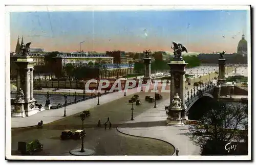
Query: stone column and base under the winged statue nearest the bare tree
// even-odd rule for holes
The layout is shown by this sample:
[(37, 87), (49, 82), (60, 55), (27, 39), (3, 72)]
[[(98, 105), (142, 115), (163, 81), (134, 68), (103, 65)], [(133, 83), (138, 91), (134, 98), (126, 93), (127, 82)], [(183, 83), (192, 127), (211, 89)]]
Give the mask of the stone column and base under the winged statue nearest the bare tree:
[(172, 99), (175, 93), (178, 93), (181, 99), (180, 109), (170, 108), (167, 117), (167, 125), (180, 125), (186, 123), (186, 104), (185, 104), (185, 66), (187, 63), (183, 60), (175, 60), (168, 63), (170, 66), (170, 106), (172, 107)]

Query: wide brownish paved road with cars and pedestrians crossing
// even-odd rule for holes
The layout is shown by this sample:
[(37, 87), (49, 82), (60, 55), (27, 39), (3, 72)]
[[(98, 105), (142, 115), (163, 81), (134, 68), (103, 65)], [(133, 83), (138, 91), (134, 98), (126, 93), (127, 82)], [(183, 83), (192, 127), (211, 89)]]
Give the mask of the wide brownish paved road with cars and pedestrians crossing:
[[(139, 93), (142, 104), (134, 105), (134, 117), (154, 107), (154, 103), (145, 102), (146, 95), (154, 96), (154, 93)], [(169, 93), (162, 93), (162, 96), (163, 100), (169, 99)], [(160, 140), (127, 136), (117, 132), (115, 129), (117, 124), (131, 119), (131, 103), (128, 103), (130, 97), (123, 97), (90, 109), (91, 116), (86, 117), (84, 123), (87, 132), (84, 137), (84, 148), (93, 149), (95, 155), (171, 155), (174, 152), (173, 146)], [(157, 101), (157, 106), (163, 100)], [(111, 130), (103, 128), (108, 117), (113, 127)], [(101, 128), (96, 126), (99, 119)], [(12, 130), (12, 154), (17, 154), (17, 142), (39, 139), (44, 144), (44, 150), (35, 155), (70, 155), (70, 150), (80, 147), (81, 140), (60, 140), (59, 136), (62, 130), (75, 131), (81, 127), (79, 114), (75, 114), (44, 125), (43, 129)]]

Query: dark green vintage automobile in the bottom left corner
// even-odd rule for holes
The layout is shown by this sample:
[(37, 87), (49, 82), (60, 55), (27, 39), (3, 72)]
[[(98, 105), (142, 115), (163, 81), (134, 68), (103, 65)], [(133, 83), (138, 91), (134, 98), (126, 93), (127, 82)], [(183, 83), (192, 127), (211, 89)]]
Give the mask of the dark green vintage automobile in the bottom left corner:
[(35, 151), (41, 151), (43, 145), (39, 142), (38, 139), (33, 140), (30, 143), (18, 142), (18, 151), (22, 155), (32, 155)]

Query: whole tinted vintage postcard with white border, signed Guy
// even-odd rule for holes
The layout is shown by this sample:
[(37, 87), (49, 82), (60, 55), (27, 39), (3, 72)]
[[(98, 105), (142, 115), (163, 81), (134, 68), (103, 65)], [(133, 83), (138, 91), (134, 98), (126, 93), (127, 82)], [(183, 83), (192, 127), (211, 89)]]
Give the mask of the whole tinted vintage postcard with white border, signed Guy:
[(6, 159), (251, 160), (250, 6), (6, 6)]

